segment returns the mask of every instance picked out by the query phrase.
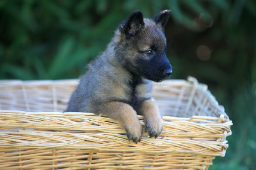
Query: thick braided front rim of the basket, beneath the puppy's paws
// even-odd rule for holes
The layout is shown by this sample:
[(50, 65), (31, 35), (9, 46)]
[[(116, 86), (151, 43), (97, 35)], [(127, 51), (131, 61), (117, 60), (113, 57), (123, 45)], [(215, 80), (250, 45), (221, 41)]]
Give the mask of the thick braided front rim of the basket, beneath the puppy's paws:
[[(127, 140), (125, 129), (120, 123), (103, 115), (86, 112), (0, 111), (0, 113), (0, 119), (3, 120), (0, 123), (0, 134), (2, 134), (2, 137), (7, 135), (10, 139), (14, 136), (13, 142), (15, 142), (0, 144), (0, 148), (12, 146), (12, 148), (82, 147), (83, 149), (90, 149), (90, 147), (97, 146), (96, 150), (115, 151), (115, 146), (120, 146), (125, 151), (143, 153), (193, 153), (223, 157), (225, 150), (228, 148), (226, 137), (232, 134), (230, 130), (232, 121), (223, 121), (223, 115), (220, 116), (219, 120), (209, 116), (194, 116), (193, 120), (191, 118), (164, 116), (164, 130), (157, 139), (150, 139), (147, 132), (143, 132), (141, 143), (135, 144)], [(143, 116), (138, 116), (138, 118), (145, 128)], [(215, 120), (215, 122), (208, 121), (209, 119)], [(4, 123), (4, 120), (8, 123)], [(14, 121), (17, 124), (13, 123)], [(173, 132), (175, 133), (173, 134)], [(196, 132), (201, 134), (198, 135)], [(63, 137), (60, 137), (60, 140), (63, 141), (53, 143), (51, 141), (47, 142), (49, 140), (47, 135), (53, 135), (53, 141), (58, 141), (56, 137), (59, 135), (65, 136), (64, 138), (71, 137), (70, 140), (64, 140)], [(20, 138), (21, 141), (15, 141), (17, 139), (15, 136), (24, 137)], [(36, 139), (40, 139), (38, 142), (41, 143), (31, 138), (34, 136)], [(38, 138), (38, 136), (43, 137), (43, 139)], [(30, 141), (26, 142), (28, 137), (30, 137)], [(104, 137), (104, 143), (100, 142), (102, 137)], [(190, 137), (195, 139), (190, 139)], [(215, 141), (216, 137), (220, 140)], [(98, 142), (92, 142), (93, 138), (98, 139)], [(89, 143), (84, 143), (81, 139), (88, 139)], [(150, 150), (145, 150), (147, 147)], [(172, 150), (172, 148), (176, 148), (176, 150)]]

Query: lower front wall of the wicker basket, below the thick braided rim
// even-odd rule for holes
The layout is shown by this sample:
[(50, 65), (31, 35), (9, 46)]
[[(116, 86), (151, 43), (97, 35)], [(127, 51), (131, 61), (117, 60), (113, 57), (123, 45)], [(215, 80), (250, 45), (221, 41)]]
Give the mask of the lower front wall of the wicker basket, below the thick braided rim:
[(1, 148), (0, 169), (205, 169), (214, 157), (65, 148)]

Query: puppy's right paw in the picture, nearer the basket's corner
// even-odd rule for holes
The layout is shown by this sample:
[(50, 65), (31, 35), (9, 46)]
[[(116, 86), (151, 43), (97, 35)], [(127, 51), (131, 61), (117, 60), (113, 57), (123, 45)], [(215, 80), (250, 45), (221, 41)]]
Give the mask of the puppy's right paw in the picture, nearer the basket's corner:
[(145, 118), (145, 132), (148, 132), (149, 137), (157, 138), (163, 130), (163, 120), (159, 118)]

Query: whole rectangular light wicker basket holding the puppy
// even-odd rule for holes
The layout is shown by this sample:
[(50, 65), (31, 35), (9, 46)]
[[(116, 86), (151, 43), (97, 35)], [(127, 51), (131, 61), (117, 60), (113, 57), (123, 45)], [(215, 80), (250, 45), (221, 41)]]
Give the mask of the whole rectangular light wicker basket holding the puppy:
[(77, 82), (0, 81), (0, 169), (208, 169), (225, 155), (232, 121), (192, 77), (155, 84), (163, 132), (138, 144), (110, 118), (63, 112)]

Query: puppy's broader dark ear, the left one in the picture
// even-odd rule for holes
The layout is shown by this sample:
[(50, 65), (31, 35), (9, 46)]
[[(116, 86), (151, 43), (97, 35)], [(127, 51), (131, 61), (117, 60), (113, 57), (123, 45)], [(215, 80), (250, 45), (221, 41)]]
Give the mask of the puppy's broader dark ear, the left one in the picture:
[(141, 31), (141, 29), (143, 29), (144, 26), (145, 26), (145, 23), (143, 21), (143, 15), (139, 10), (136, 10), (120, 26), (120, 31), (125, 35), (126, 39), (129, 39), (132, 36), (136, 35), (138, 31)]

